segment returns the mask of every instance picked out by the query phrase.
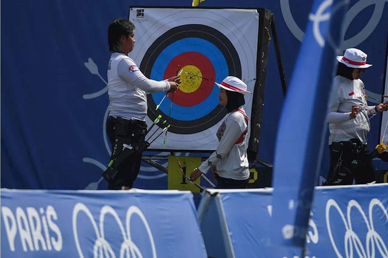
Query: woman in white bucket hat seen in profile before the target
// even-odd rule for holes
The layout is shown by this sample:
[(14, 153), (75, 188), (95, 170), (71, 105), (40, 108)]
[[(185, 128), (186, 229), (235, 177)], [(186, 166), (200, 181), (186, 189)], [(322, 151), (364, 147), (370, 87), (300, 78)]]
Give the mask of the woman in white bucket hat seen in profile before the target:
[(227, 109), (227, 116), (217, 131), (219, 141), (217, 150), (194, 169), (190, 175), (196, 180), (210, 169), (217, 180), (217, 188), (247, 188), (249, 182), (249, 163), (247, 157), (249, 117), (245, 114), (244, 95), (251, 94), (247, 85), (239, 78), (227, 76), (218, 84), (220, 105)]

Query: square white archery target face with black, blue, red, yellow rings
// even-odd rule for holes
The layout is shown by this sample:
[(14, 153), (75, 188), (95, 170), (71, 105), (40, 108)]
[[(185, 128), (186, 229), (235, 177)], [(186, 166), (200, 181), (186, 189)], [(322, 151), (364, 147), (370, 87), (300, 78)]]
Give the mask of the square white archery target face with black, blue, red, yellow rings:
[[(163, 147), (163, 133), (149, 148), (215, 150), (218, 146), (215, 132), (227, 114), (218, 104), (219, 88), (215, 82), (236, 76), (253, 93), (257, 11), (136, 7), (130, 9), (129, 19), (136, 26), (135, 48), (129, 56), (140, 71), (156, 81), (181, 74), (178, 90), (170, 93), (158, 110), (156, 107), (166, 93), (147, 95), (147, 125), (151, 126), (159, 114), (162, 120), (167, 120), (166, 124), (171, 124), (166, 146)], [(244, 108), (249, 117), (252, 96), (245, 97)]]

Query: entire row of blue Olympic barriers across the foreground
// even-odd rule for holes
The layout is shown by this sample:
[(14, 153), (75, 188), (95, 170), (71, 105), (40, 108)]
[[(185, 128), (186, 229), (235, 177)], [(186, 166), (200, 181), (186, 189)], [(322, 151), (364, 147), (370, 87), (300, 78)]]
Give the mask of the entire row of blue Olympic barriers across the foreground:
[[(316, 187), (304, 258), (387, 257), (387, 192)], [(272, 189), (211, 190), (197, 213), (189, 192), (1, 189), (1, 257), (301, 257), (270, 245), (271, 213)]]

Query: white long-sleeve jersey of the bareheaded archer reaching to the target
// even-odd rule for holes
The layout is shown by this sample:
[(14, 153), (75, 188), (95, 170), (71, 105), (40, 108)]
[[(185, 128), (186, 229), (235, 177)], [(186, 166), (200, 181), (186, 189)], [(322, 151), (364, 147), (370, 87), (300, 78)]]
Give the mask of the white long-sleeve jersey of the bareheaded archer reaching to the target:
[(123, 53), (112, 53), (108, 63), (109, 115), (145, 121), (147, 94), (170, 90), (168, 81), (148, 79)]

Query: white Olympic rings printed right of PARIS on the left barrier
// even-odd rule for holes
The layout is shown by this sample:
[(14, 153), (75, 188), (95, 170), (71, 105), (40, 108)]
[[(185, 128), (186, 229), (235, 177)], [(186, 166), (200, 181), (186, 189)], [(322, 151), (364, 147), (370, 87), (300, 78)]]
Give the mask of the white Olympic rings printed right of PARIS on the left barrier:
[[(93, 228), (95, 230), (97, 240), (94, 243), (94, 248), (93, 248), (93, 257), (94, 258), (116, 258), (113, 249), (111, 245), (108, 243), (108, 241), (105, 239), (105, 234), (104, 234), (104, 218), (107, 213), (111, 214), (114, 219), (116, 220), (117, 224), (120, 227), (121, 234), (123, 236), (123, 243), (121, 243), (121, 248), (120, 248), (120, 258), (124, 257), (143, 257), (143, 255), (140, 253), (140, 249), (136, 246), (135, 243), (133, 243), (132, 238), (131, 238), (131, 233), (130, 233), (130, 224), (131, 224), (131, 217), (133, 214), (137, 214), (140, 219), (142, 220), (146, 230), (147, 230), (147, 235), (149, 236), (149, 241), (151, 243), (151, 250), (152, 250), (152, 258), (156, 258), (156, 248), (155, 248), (155, 243), (154, 239), (152, 237), (151, 229), (148, 225), (147, 220), (144, 217), (144, 214), (141, 212), (141, 210), (136, 207), (136, 206), (130, 206), (126, 212), (126, 231), (124, 229), (124, 226), (116, 213), (116, 211), (109, 205), (105, 205), (101, 208), (100, 211), (100, 227), (97, 227), (97, 223), (95, 222), (92, 213), (89, 211), (88, 207), (84, 205), (83, 203), (77, 203), (74, 206), (73, 209), (73, 234), (74, 234), (74, 241), (76, 244), (76, 248), (78, 251), (78, 255), (80, 258), (85, 258), (80, 242), (78, 239), (78, 231), (77, 231), (77, 217), (79, 212), (84, 212), (87, 217), (90, 219), (90, 222), (92, 222)], [(125, 256), (126, 254), (126, 256)], [(87, 255), (86, 257), (90, 257), (90, 255)]]

